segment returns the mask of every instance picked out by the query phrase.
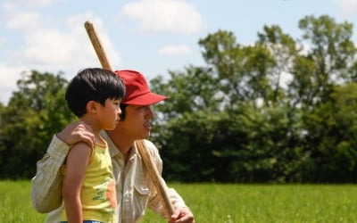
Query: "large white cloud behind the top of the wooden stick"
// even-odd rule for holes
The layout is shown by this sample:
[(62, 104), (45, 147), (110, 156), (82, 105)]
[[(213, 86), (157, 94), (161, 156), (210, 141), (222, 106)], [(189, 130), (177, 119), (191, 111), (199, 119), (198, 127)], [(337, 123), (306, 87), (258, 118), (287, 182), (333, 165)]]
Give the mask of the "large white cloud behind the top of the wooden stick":
[[(16, 62), (15, 65), (26, 64), (36, 70), (70, 71), (71, 75), (84, 67), (100, 67), (84, 28), (84, 21), (87, 20), (93, 21), (95, 28), (101, 31), (98, 35), (112, 64), (119, 63), (120, 55), (114, 51), (112, 42), (102, 27), (103, 22), (90, 12), (64, 20), (64, 31), (46, 28), (24, 30), (25, 46), (11, 55), (12, 61)], [(99, 27), (96, 27), (96, 23)]]

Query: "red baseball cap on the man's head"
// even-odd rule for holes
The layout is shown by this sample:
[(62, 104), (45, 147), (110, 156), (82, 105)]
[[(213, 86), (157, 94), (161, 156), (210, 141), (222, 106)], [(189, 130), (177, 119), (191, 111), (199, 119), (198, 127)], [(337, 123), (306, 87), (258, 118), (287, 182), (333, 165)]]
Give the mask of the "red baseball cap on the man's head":
[(121, 103), (150, 105), (168, 98), (151, 92), (144, 76), (136, 70), (115, 70), (115, 73), (122, 79), (126, 88), (126, 93)]

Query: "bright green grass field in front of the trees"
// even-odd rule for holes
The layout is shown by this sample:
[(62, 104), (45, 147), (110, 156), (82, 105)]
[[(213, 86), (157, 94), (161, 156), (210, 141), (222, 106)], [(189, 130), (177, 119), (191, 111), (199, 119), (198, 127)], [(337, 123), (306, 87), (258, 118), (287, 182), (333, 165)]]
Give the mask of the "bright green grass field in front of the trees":
[[(170, 184), (197, 223), (357, 222), (354, 185)], [(31, 208), (29, 181), (0, 181), (0, 222), (44, 222)], [(166, 222), (147, 211), (145, 223)]]

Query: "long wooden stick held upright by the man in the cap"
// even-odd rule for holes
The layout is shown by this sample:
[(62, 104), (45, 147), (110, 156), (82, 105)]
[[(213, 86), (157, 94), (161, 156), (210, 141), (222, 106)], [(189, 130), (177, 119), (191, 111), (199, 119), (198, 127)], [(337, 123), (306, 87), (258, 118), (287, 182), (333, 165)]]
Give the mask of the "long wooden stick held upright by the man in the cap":
[[(84, 26), (87, 30), (88, 37), (90, 38), (90, 41), (92, 42), (92, 45), (95, 48), (95, 53), (98, 56), (99, 61), (102, 64), (102, 67), (105, 70), (112, 70), (112, 67), (104, 52), (104, 48), (99, 40), (99, 37), (96, 34), (93, 24), (89, 21), (86, 21)], [(137, 145), (137, 150), (140, 153), (141, 158), (143, 159), (147, 173), (149, 174), (149, 177), (153, 181), (153, 184), (156, 188), (159, 198), (162, 201), (162, 206), (164, 208), (166, 216), (168, 219), (170, 219), (170, 216), (173, 214), (174, 208), (172, 206), (172, 203), (170, 202), (169, 194), (166, 191), (167, 186), (163, 181), (161, 174), (156, 169), (153, 158), (151, 157), (150, 153), (147, 152), (145, 148), (144, 140), (137, 140), (136, 145)]]

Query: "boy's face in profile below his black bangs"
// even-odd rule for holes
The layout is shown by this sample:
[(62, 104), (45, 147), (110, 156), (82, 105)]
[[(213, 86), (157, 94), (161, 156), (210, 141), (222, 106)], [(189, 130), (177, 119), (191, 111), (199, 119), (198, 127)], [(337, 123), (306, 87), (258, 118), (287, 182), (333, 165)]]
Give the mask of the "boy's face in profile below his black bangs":
[(120, 100), (106, 99), (104, 106), (100, 109), (100, 119), (102, 129), (112, 130), (116, 127), (119, 122), (121, 110), (120, 110)]

